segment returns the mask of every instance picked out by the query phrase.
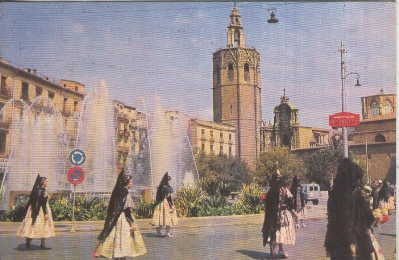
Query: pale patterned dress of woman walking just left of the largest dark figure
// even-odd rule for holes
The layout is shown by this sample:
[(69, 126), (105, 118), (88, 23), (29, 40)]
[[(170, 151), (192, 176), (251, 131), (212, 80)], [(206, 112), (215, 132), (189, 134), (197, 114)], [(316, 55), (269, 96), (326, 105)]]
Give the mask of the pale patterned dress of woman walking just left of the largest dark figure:
[(292, 194), (287, 188), (280, 188), (280, 202), (279, 202), (279, 225), (276, 231), (275, 243), (295, 245), (295, 227), (291, 213), (288, 211), (289, 201), (292, 199)]

